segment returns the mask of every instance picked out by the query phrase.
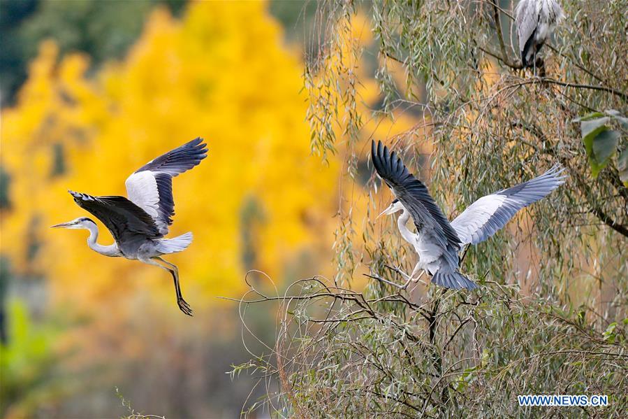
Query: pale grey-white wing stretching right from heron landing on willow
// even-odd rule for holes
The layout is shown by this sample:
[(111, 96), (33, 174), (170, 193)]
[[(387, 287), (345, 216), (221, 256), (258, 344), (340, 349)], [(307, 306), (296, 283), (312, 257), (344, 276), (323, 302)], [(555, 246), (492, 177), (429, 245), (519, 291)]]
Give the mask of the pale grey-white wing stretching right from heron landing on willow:
[(485, 241), (502, 229), (513, 215), (555, 190), (564, 183), (560, 165), (553, 166), (538, 178), (481, 197), (451, 222), (462, 244)]

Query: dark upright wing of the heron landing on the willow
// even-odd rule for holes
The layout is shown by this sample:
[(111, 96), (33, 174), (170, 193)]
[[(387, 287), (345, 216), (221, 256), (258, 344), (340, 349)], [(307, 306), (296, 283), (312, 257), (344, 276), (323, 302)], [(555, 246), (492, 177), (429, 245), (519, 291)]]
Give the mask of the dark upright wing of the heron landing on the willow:
[(460, 248), (458, 235), (430, 196), (428, 188), (408, 171), (395, 152), (388, 152), (388, 147), (382, 145), (381, 141), (378, 141), (377, 146), (372, 141), (371, 155), (377, 174), (407, 208), (418, 231), (425, 226), (432, 227), (443, 241), (441, 246), (450, 244), (455, 249)]

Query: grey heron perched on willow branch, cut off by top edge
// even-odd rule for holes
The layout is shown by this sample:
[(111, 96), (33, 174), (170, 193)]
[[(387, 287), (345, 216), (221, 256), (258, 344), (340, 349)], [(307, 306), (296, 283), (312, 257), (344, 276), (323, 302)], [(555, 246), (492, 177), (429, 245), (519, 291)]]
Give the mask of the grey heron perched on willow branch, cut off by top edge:
[(524, 67), (536, 66), (536, 54), (564, 13), (556, 0), (520, 0), (515, 9), (519, 52)]

